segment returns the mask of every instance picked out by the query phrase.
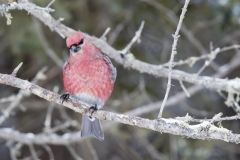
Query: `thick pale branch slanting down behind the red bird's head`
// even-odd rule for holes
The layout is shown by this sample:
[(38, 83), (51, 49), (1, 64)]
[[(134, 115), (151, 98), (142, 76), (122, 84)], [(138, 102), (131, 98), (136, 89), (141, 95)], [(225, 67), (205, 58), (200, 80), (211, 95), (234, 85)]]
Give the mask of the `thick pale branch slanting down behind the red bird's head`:
[[(69, 36), (72, 32), (75, 32), (73, 29), (62, 24), (60, 20), (54, 19), (46, 9), (40, 8), (35, 4), (28, 2), (27, 0), (19, 0), (19, 3), (11, 3), (10, 7), (6, 5), (0, 6), (1, 12), (16, 9), (25, 10), (28, 13), (32, 14), (42, 23), (47, 25), (52, 31), (57, 32), (63, 38)], [(121, 50), (114, 49), (104, 40), (89, 36), (87, 34), (86, 36), (105, 54), (107, 54), (110, 58), (114, 59), (117, 63), (123, 65), (125, 68), (134, 69), (139, 71), (140, 73), (150, 74), (155, 77), (168, 77), (169, 69), (164, 68), (161, 65), (153, 65), (137, 60), (132, 54), (128, 54), (124, 56), (124, 58), (122, 58), (120, 54)], [(240, 93), (239, 79), (227, 80), (220, 78), (212, 78), (208, 76), (198, 76), (180, 70), (172, 70), (172, 79), (185, 81), (193, 84), (199, 84), (208, 89), (216, 91), (221, 90), (226, 92)]]

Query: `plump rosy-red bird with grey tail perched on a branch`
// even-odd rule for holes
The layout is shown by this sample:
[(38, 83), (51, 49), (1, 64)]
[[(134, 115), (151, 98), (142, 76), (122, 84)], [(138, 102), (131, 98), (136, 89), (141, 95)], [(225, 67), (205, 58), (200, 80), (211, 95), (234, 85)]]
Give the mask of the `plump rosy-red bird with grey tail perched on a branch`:
[[(116, 68), (110, 59), (92, 44), (81, 32), (66, 40), (69, 58), (63, 67), (64, 100), (69, 95), (89, 104), (89, 110), (98, 110), (111, 96), (116, 80)], [(100, 121), (83, 115), (81, 136), (94, 136), (104, 140)]]

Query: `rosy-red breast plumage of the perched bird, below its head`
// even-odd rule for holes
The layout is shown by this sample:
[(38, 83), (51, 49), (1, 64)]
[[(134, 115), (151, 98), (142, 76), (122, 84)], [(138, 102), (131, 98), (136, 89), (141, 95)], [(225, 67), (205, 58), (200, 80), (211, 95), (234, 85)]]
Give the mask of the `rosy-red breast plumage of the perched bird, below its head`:
[(113, 91), (115, 72), (110, 60), (84, 39), (79, 53), (70, 55), (64, 66), (64, 90), (73, 95), (88, 94), (105, 102)]

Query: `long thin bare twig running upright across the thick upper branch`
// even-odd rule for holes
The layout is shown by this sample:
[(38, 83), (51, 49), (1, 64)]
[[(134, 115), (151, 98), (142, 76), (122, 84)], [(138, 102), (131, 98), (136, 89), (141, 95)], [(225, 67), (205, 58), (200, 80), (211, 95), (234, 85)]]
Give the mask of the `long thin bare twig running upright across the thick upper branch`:
[(158, 118), (162, 117), (162, 112), (163, 112), (163, 109), (164, 109), (164, 107), (166, 105), (166, 102), (167, 102), (167, 99), (168, 99), (168, 95), (169, 95), (169, 92), (170, 92), (170, 89), (171, 89), (172, 68), (173, 68), (173, 64), (172, 63), (174, 61), (175, 55), (177, 54), (177, 42), (178, 42), (178, 38), (180, 36), (179, 32), (180, 32), (180, 29), (181, 29), (181, 26), (182, 26), (182, 23), (183, 23), (184, 16), (185, 16), (185, 14), (187, 12), (187, 7), (188, 7), (189, 2), (190, 2), (190, 0), (185, 0), (184, 6), (183, 6), (183, 9), (182, 9), (182, 13), (180, 15), (179, 22), (178, 22), (178, 25), (177, 25), (177, 29), (176, 29), (176, 31), (175, 31), (175, 33), (173, 35), (172, 51), (171, 51), (171, 57), (170, 57), (169, 66), (168, 66), (169, 73), (168, 73), (167, 90), (166, 90), (163, 102), (162, 102), (162, 104), (160, 106), (160, 111), (159, 111), (159, 114), (158, 114)]

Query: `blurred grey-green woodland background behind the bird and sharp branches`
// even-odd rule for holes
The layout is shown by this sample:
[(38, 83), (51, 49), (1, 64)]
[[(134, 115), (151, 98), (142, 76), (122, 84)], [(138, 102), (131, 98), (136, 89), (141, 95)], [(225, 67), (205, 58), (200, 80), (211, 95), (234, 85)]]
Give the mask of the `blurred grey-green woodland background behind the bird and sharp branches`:
[[(48, 0), (32, 0), (46, 6)], [(1, 3), (4, 3), (3, 1)], [(181, 0), (56, 0), (52, 8), (55, 18), (64, 18), (67, 26), (101, 36), (107, 27), (111, 28), (107, 41), (116, 49), (124, 46), (134, 36), (142, 20), (145, 27), (141, 43), (131, 49), (134, 56), (152, 64), (163, 64), (169, 60), (172, 34), (176, 29), (178, 17), (184, 1)], [(34, 81), (38, 85), (63, 93), (62, 63), (68, 57), (65, 40), (48, 27), (24, 11), (12, 11), (12, 24), (7, 25), (0, 18), (0, 72), (11, 73), (23, 62), (18, 77)], [(192, 56), (208, 54), (212, 48), (238, 44), (240, 40), (240, 1), (239, 0), (192, 0), (184, 19), (178, 43), (176, 61)], [(231, 64), (240, 53), (237, 50), (223, 52), (201, 75), (215, 76), (219, 68)], [(239, 58), (240, 61), (240, 58)], [(117, 67), (118, 76), (115, 90), (106, 104), (105, 110), (124, 113), (138, 107), (157, 105), (165, 94), (167, 79), (155, 78), (134, 70)], [(189, 73), (197, 73), (204, 64), (199, 61), (192, 66), (176, 67)], [(239, 65), (229, 68), (221, 76), (239, 77)], [(44, 73), (36, 76), (37, 73)], [(191, 84), (185, 84), (191, 87)], [(170, 98), (175, 100), (164, 110), (164, 117), (185, 116), (189, 113), (195, 118), (211, 118), (222, 112), (225, 116), (235, 115), (234, 108), (225, 105), (226, 94), (207, 89), (199, 89), (190, 98), (174, 95), (183, 92), (178, 81), (173, 81)], [(51, 128), (57, 134), (78, 131), (81, 116), (66, 108), (40, 99), (34, 95), (22, 94), (17, 104), (13, 104), (19, 90), (0, 86), (0, 110), (4, 115), (12, 107), (11, 114), (4, 118), (1, 127), (11, 127), (20, 132), (42, 133)], [(184, 93), (182, 94), (184, 95)], [(15, 97), (15, 98), (11, 98)], [(50, 109), (49, 109), (50, 108)], [(139, 116), (154, 119), (158, 109)], [(51, 114), (51, 123), (46, 124)], [(69, 121), (68, 125), (65, 124)], [(79, 143), (48, 145), (56, 160), (107, 159), (107, 160), (237, 160), (240, 159), (239, 145), (222, 141), (193, 140), (186, 137), (160, 134), (137, 127), (102, 122), (105, 140), (84, 139)], [(224, 127), (239, 133), (239, 121), (224, 122)], [(59, 127), (61, 126), (61, 127)], [(0, 140), (0, 159), (11, 159), (9, 145)], [(19, 144), (18, 144), (19, 145)], [(49, 154), (39, 145), (34, 145), (39, 159), (47, 160)], [(18, 159), (32, 159), (28, 146), (20, 145)]]

